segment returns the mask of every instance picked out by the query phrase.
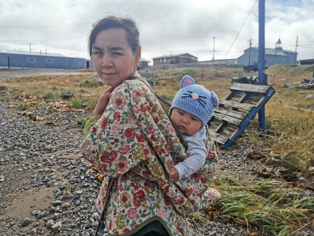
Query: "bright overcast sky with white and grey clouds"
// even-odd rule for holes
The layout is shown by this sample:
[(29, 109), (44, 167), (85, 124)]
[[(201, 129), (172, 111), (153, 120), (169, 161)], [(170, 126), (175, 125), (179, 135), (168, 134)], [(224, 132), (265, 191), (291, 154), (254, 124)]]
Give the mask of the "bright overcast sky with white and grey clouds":
[[(265, 47), (279, 37), (298, 60), (314, 58), (314, 0), (265, 0)], [(190, 53), (199, 60), (238, 58), (258, 47), (257, 0), (0, 0), (0, 52), (31, 50), (85, 57), (93, 22), (133, 17), (142, 57)], [(243, 26), (243, 27), (242, 27)], [(215, 37), (215, 54), (214, 38)]]

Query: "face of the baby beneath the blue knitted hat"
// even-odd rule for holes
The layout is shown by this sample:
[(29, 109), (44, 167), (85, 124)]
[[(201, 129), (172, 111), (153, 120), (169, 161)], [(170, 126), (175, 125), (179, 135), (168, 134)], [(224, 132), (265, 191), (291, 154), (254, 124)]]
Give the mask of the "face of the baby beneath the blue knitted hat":
[(202, 121), (198, 117), (179, 108), (172, 109), (170, 117), (182, 134), (191, 136), (202, 127)]

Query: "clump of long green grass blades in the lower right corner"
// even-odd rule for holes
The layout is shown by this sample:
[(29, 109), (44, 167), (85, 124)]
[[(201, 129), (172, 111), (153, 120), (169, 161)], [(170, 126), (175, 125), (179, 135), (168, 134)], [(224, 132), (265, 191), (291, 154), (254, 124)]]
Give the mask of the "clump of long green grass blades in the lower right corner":
[[(216, 176), (214, 185), (222, 198), (208, 210), (241, 225), (255, 225), (268, 235), (298, 235), (295, 231), (312, 221), (314, 199), (282, 180), (265, 179), (252, 183), (230, 181)], [(295, 233), (295, 234), (293, 234)]]

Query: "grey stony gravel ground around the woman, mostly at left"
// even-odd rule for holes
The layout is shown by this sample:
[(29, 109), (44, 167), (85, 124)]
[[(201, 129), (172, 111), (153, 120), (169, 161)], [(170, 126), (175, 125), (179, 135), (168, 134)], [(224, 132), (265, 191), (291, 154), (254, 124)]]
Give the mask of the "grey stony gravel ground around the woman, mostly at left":
[[(45, 119), (32, 121), (8, 108), (7, 102), (0, 104), (0, 235), (94, 235), (100, 183), (93, 173), (87, 174), (89, 164), (79, 148), (83, 127), (75, 122), (89, 114), (45, 111), (44, 107), (34, 108), (33, 114)], [(45, 125), (48, 120), (57, 126)], [(249, 178), (248, 166), (253, 163), (243, 158), (248, 148), (243, 144), (220, 150), (218, 171)], [(247, 235), (245, 229), (223, 217), (209, 224), (191, 223), (195, 235)]]

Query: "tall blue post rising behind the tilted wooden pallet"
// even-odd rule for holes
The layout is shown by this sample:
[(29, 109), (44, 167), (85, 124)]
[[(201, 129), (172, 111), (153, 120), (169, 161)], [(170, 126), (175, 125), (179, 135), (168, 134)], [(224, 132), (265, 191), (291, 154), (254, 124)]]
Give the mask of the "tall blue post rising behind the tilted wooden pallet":
[[(265, 81), (265, 0), (258, 0), (258, 84)], [(258, 112), (258, 126), (265, 130), (265, 107)]]

